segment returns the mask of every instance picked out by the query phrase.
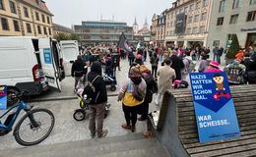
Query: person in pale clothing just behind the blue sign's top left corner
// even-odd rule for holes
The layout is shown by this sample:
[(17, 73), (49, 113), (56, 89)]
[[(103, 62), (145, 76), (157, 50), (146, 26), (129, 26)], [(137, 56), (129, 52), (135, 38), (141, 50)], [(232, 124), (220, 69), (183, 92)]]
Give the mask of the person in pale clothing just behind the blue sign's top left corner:
[(196, 67), (196, 63), (194, 63), (190, 57), (190, 52), (186, 52), (184, 55), (182, 59), (184, 68), (181, 71), (181, 80), (186, 80), (188, 74), (193, 72)]

